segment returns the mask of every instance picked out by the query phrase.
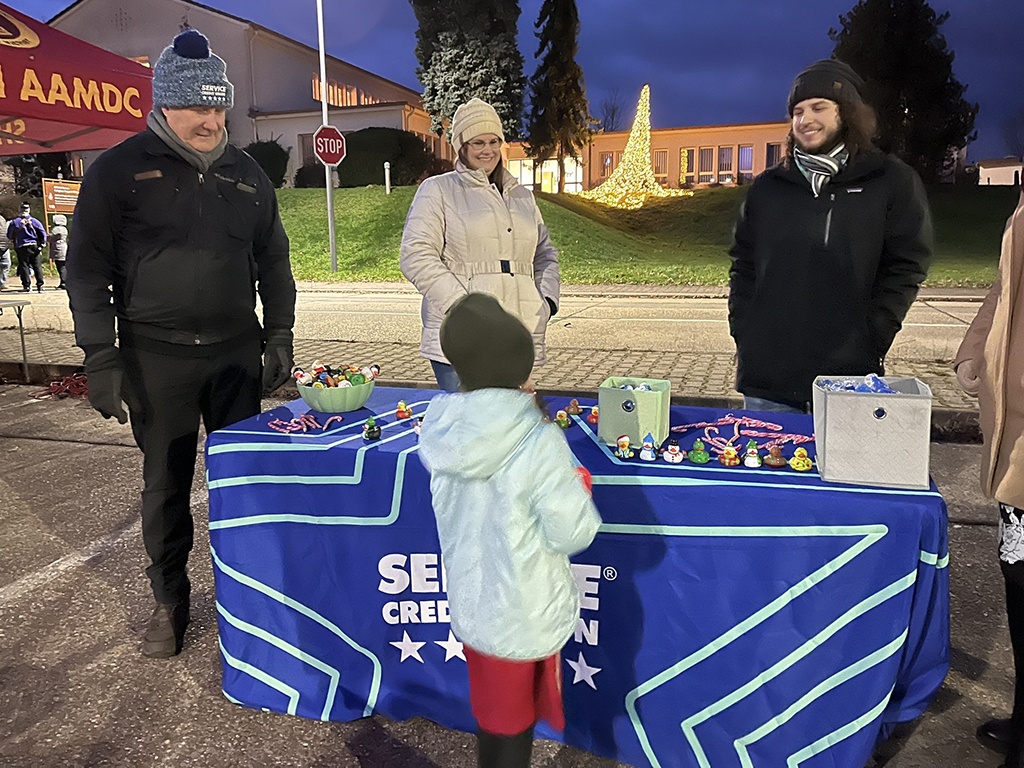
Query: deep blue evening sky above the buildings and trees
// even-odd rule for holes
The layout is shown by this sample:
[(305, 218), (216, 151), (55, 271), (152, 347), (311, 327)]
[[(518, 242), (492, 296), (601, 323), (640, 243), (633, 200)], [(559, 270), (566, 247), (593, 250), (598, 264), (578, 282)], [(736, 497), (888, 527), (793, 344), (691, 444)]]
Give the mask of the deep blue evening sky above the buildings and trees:
[[(521, 0), (519, 44), (532, 74), (534, 23), (542, 0)], [(4, 0), (48, 20), (70, 0)], [(651, 86), (655, 128), (785, 119), (794, 75), (829, 55), (829, 27), (855, 0), (578, 0), (578, 60), (591, 111), (617, 91), (629, 127), (640, 88)], [(316, 47), (314, 0), (206, 0)], [(971, 160), (1009, 153), (1007, 124), (1024, 121), (1024, 2), (933, 0), (953, 73), (981, 109)], [(416, 17), (408, 0), (324, 0), (328, 51), (409, 87), (416, 79)], [(201, 30), (202, 31), (202, 30)], [(168, 31), (168, 41), (176, 30)], [(214, 50), (217, 41), (213, 40)], [(228, 73), (230, 75), (230, 73)]]

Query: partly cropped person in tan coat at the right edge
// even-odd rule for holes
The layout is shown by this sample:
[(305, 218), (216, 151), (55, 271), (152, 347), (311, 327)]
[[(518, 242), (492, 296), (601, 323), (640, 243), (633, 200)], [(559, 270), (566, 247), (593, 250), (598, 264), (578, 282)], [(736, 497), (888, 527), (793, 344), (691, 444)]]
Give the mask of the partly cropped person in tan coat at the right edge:
[(1024, 194), (1007, 223), (999, 273), (956, 358), (956, 380), (978, 395), (985, 445), (981, 489), (999, 505), (999, 566), (1014, 649), (1012, 717), (989, 720), (978, 738), (1024, 768)]

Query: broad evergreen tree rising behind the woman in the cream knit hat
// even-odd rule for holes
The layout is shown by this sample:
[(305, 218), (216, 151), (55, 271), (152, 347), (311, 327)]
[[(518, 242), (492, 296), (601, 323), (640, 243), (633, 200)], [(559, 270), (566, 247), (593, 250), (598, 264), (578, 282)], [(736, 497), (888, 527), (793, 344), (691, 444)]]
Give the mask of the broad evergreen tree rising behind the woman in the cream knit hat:
[(505, 137), (518, 138), (525, 78), (516, 44), (518, 0), (410, 0), (416, 12), (416, 75), (440, 135), (459, 104), (476, 96), (498, 112)]

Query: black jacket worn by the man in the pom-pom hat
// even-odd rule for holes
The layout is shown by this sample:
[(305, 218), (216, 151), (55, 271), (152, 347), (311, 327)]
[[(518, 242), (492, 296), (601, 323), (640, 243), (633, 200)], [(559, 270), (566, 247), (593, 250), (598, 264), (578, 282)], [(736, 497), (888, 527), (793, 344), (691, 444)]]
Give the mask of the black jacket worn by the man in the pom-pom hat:
[[(199, 173), (151, 130), (86, 173), (69, 238), (75, 337), (90, 348), (123, 334), (202, 346), (291, 331), (295, 281), (266, 174), (228, 145)], [(112, 302), (113, 299), (113, 302)]]

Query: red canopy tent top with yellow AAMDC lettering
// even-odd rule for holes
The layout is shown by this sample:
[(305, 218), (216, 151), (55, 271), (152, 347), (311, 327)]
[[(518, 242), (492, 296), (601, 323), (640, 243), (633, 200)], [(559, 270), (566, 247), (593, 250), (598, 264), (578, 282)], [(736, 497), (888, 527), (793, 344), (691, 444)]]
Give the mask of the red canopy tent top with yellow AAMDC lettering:
[(0, 3), (0, 156), (105, 150), (152, 104), (150, 68)]

